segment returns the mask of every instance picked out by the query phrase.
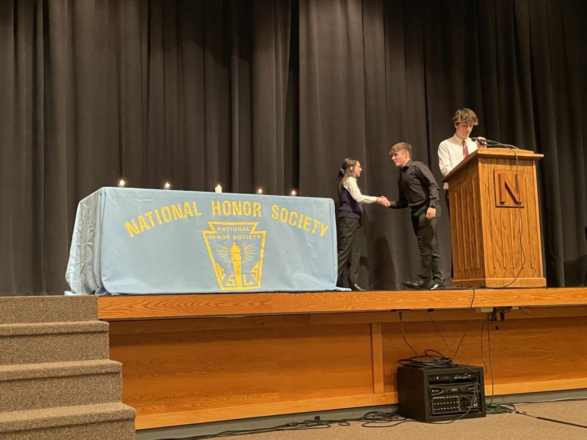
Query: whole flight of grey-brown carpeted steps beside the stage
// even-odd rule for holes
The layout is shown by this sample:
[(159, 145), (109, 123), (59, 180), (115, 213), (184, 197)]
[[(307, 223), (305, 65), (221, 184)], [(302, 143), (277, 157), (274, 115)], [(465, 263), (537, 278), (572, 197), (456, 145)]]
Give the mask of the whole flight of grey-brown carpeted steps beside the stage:
[(93, 296), (0, 298), (0, 439), (135, 438), (108, 326)]

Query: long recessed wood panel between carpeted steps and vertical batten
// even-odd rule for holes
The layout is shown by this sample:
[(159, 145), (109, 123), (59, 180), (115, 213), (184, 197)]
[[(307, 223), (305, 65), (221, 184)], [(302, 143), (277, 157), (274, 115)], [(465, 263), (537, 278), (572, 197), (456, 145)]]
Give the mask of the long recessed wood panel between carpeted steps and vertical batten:
[(149, 321), (150, 332), (129, 334), (117, 324), (110, 358), (124, 365), (137, 417), (373, 393), (369, 324), (157, 333)]

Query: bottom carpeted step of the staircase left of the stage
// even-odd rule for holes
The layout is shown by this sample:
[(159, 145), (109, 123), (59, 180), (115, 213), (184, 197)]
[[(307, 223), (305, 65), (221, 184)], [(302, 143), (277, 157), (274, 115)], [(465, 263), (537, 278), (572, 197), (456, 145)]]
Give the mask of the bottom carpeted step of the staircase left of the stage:
[(2, 440), (130, 440), (134, 408), (122, 403), (0, 412)]

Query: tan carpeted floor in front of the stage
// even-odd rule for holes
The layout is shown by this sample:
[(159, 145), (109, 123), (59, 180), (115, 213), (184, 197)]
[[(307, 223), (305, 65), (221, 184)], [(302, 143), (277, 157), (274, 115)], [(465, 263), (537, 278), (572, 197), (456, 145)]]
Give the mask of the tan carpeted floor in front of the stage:
[[(404, 422), (393, 427), (365, 428), (359, 422), (326, 429), (280, 431), (237, 436), (239, 440), (389, 440), (397, 439), (587, 439), (587, 401), (516, 404), (518, 411), (538, 417), (584, 425), (575, 427), (522, 414), (490, 414), (485, 418), (457, 420), (450, 424)], [(391, 422), (393, 425), (397, 422)], [(381, 425), (383, 426), (383, 425)]]

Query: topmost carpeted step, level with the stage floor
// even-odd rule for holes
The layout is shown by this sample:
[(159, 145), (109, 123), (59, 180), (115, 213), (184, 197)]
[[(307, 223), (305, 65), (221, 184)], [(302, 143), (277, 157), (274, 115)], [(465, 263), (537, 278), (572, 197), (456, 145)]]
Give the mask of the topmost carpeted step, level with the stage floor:
[(98, 298), (83, 296), (0, 296), (0, 324), (97, 320)]

